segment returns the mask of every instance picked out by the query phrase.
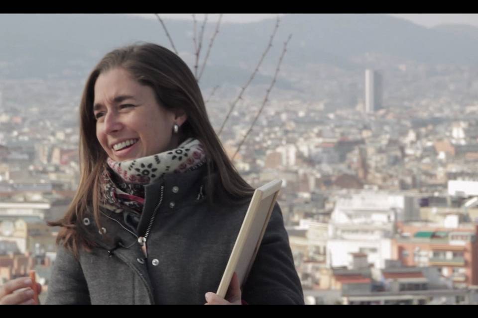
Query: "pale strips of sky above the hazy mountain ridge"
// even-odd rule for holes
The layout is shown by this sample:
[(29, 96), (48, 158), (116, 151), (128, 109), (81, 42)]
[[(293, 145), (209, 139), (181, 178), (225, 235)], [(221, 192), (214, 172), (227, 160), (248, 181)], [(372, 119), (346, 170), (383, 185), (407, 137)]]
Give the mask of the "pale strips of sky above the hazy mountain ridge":
[[(408, 19), (416, 24), (426, 27), (436, 26), (438, 24), (469, 24), (478, 27), (477, 13), (389, 13), (390, 15)], [(149, 18), (156, 18), (154, 14), (138, 14)], [(191, 13), (161, 13), (161, 17), (174, 19), (192, 19)], [(198, 20), (202, 20), (204, 14), (196, 14)], [(284, 13), (225, 13), (223, 15), (223, 22), (253, 22), (265, 18), (276, 17), (277, 15), (284, 15)], [(217, 21), (219, 13), (210, 13), (208, 15), (209, 21)]]

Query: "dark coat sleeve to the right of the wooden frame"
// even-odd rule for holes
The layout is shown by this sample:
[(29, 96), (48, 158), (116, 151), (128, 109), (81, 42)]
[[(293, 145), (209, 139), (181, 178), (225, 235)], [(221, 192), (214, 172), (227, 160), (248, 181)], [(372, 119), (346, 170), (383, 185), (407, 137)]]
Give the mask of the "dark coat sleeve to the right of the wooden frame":
[(242, 299), (247, 304), (304, 304), (289, 237), (277, 203), (243, 285)]

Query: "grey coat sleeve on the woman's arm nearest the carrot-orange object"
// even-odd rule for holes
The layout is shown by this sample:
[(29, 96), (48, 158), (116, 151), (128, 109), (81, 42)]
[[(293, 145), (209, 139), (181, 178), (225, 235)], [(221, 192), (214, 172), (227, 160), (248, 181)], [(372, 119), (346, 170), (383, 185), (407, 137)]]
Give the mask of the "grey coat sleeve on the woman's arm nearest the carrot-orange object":
[(58, 246), (48, 284), (47, 305), (88, 305), (90, 294), (80, 262), (63, 245)]

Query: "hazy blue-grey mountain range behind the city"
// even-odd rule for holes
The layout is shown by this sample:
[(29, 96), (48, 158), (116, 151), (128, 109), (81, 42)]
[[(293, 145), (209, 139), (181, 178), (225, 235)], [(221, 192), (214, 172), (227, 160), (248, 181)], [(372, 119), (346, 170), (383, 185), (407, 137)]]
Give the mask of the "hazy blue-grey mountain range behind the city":
[[(180, 55), (192, 61), (192, 22), (165, 22)], [(204, 81), (244, 82), (260, 58), (274, 25), (275, 19), (223, 24)], [(205, 46), (214, 28), (214, 22), (208, 24)], [(282, 43), (290, 33), (292, 40), (284, 59), (289, 67), (305, 69), (311, 63), (326, 63), (357, 68), (362, 66), (354, 58), (367, 52), (422, 63), (476, 65), (478, 62), (477, 27), (426, 28), (385, 14), (288, 14), (281, 18), (267, 58), (269, 65), (276, 63)], [(155, 19), (123, 14), (0, 14), (0, 76), (86, 76), (104, 53), (135, 41), (170, 47)], [(206, 48), (203, 50), (204, 57)], [(270, 73), (272, 68), (268, 70)], [(263, 75), (255, 82), (268, 80)], [(287, 86), (287, 81), (282, 79), (279, 85)]]

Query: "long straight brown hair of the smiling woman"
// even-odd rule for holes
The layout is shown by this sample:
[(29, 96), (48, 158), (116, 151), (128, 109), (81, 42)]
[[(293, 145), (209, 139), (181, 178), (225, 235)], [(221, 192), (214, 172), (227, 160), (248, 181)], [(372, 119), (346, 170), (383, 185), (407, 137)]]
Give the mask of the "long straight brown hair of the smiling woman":
[(215, 195), (218, 192), (226, 194), (233, 202), (253, 193), (253, 188), (242, 179), (227, 157), (209, 121), (197, 80), (187, 64), (170, 50), (156, 44), (135, 44), (116, 49), (105, 55), (86, 81), (80, 104), (80, 183), (64, 217), (48, 223), (62, 227), (57, 243), (61, 242), (77, 257), (80, 248), (90, 250), (94, 246), (93, 242), (80, 235), (75, 223), (82, 220), (88, 210), (93, 210), (94, 219), (100, 224), (100, 175), (107, 159), (96, 137), (93, 114), (95, 82), (100, 74), (118, 67), (128, 71), (139, 83), (151, 87), (160, 105), (170, 111), (186, 113), (180, 142), (193, 137), (205, 149), (208, 160), (206, 193), (210, 203), (223, 197)]

